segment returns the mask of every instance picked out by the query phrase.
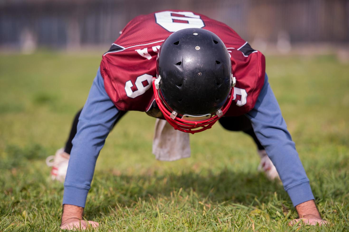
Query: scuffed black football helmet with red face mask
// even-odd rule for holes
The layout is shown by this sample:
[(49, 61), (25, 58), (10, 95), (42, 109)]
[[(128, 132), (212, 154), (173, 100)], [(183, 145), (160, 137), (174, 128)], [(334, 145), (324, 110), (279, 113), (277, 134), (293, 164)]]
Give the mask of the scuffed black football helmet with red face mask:
[(171, 34), (159, 49), (156, 72), (155, 99), (175, 129), (203, 131), (229, 109), (235, 78), (228, 50), (213, 32), (188, 28)]

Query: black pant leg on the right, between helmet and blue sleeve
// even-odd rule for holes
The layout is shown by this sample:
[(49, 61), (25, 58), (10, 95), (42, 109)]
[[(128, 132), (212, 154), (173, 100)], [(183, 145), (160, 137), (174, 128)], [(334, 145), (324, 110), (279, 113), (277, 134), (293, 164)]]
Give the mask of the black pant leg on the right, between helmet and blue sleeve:
[(237, 117), (222, 117), (218, 121), (221, 123), (222, 127), (227, 130), (243, 131), (244, 133), (250, 135), (258, 150), (264, 150), (264, 147), (259, 142), (257, 136), (254, 134), (250, 119), (248, 119), (245, 115)]

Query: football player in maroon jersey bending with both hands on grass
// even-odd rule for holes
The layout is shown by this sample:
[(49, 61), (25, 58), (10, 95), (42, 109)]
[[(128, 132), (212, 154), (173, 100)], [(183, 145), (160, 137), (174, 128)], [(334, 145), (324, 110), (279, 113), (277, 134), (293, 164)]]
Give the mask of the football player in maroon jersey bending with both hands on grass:
[(260, 51), (224, 23), (189, 11), (140, 15), (120, 33), (102, 56), (65, 151), (58, 151), (60, 159), (53, 163), (48, 160), (54, 177), (69, 162), (61, 228), (86, 228), (81, 219), (99, 151), (112, 127), (131, 110), (165, 119), (184, 133), (207, 130), (216, 121), (225, 129), (244, 131), (257, 145), (260, 168), (270, 178), (280, 176), (297, 220), (326, 223), (315, 206)]

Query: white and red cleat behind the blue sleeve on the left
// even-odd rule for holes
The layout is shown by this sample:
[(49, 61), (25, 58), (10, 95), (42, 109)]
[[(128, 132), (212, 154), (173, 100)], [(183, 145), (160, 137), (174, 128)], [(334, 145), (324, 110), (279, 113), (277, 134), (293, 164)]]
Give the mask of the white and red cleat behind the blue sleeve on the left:
[(53, 180), (58, 180), (64, 182), (65, 176), (67, 174), (68, 162), (70, 155), (64, 152), (64, 149), (58, 149), (55, 155), (50, 155), (46, 158), (46, 164), (51, 169), (51, 178)]

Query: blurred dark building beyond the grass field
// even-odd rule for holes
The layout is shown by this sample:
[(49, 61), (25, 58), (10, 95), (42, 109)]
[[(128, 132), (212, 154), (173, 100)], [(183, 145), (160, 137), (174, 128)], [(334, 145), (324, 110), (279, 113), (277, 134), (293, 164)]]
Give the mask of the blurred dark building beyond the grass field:
[(165, 9), (222, 21), (259, 50), (349, 42), (349, 0), (0, 0), (0, 47), (109, 45), (133, 17)]

